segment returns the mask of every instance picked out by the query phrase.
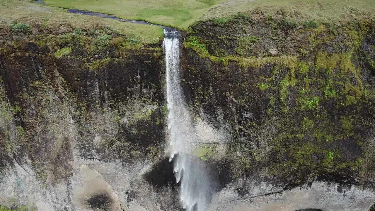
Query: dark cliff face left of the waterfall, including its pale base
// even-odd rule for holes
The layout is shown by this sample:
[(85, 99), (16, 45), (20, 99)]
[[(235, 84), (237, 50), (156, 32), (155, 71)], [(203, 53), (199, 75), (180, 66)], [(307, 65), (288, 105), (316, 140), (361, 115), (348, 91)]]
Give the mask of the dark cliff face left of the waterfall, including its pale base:
[(76, 31), (27, 36), (5, 37), (0, 56), (1, 203), (129, 206), (139, 192), (129, 184), (144, 181), (167, 144), (161, 44)]

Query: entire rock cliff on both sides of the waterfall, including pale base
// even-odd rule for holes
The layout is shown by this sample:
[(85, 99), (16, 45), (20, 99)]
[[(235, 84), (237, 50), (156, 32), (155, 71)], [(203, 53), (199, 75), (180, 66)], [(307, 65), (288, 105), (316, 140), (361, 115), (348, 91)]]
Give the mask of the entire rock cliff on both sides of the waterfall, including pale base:
[[(374, 30), (369, 20), (297, 28), (240, 14), (181, 38), (181, 83), (202, 140), (195, 155), (220, 181), (212, 209), (371, 205)], [(0, 204), (182, 209), (161, 42), (37, 27), (0, 38)]]

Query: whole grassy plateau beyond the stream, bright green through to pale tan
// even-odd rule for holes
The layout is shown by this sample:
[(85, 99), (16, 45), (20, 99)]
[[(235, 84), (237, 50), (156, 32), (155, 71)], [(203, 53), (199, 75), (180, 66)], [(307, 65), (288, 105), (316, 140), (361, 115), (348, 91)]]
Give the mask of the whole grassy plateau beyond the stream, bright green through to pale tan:
[(43, 0), (46, 5), (112, 14), (186, 30), (196, 20), (238, 12), (281, 14), (297, 22), (346, 22), (375, 12), (374, 0)]

